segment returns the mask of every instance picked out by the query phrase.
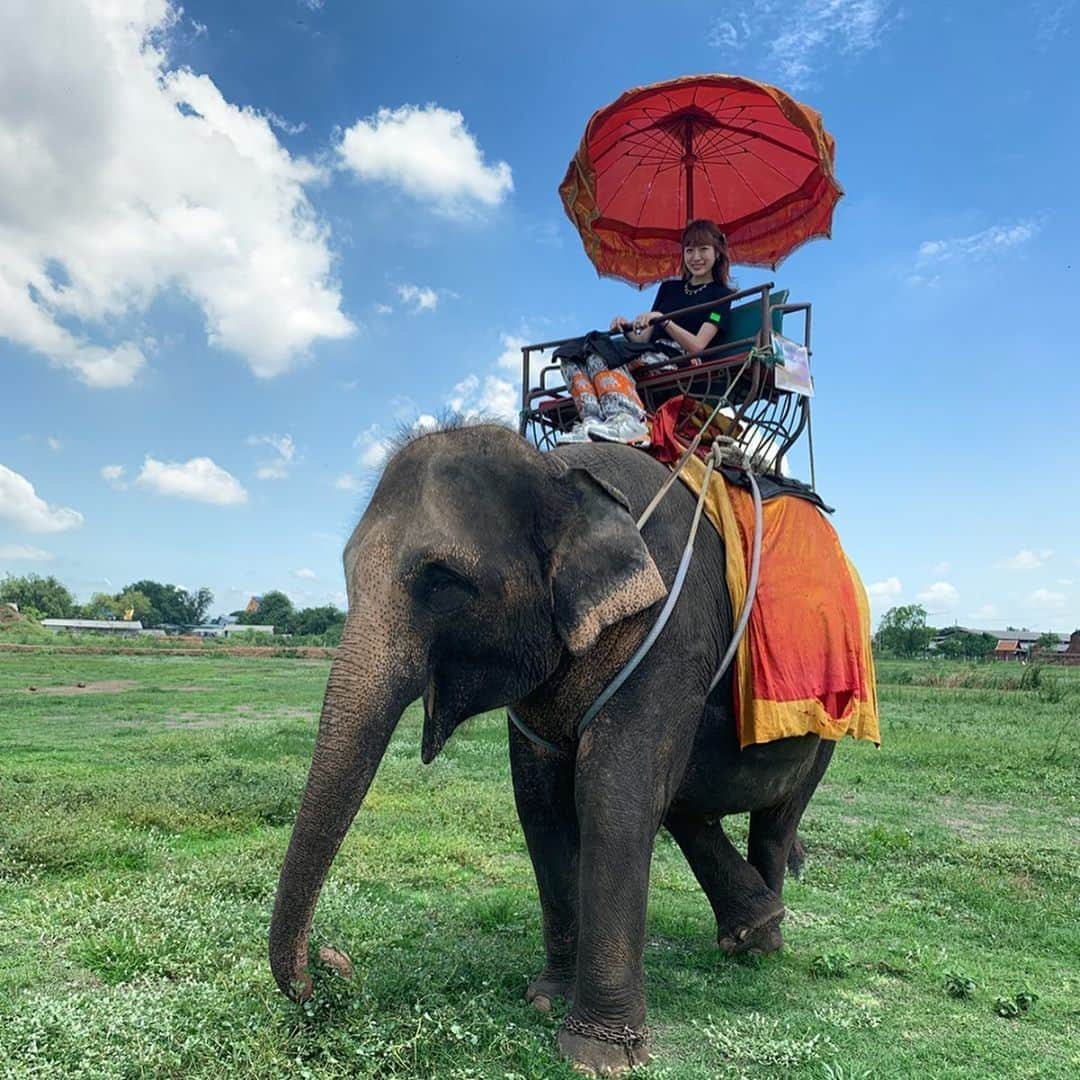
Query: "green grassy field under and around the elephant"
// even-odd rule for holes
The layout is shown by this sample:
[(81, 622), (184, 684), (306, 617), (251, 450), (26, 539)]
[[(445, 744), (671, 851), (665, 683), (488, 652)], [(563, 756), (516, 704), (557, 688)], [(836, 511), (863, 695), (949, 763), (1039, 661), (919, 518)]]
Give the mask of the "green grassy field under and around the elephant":
[[(522, 1002), (538, 906), (496, 715), (423, 768), (406, 714), (316, 913), (356, 974), (278, 994), (328, 666), (0, 654), (0, 1077), (573, 1075)], [(647, 1075), (1080, 1075), (1080, 671), (964, 671), (881, 665), (885, 746), (842, 745), (811, 804), (782, 954), (719, 956), (661, 835)]]

